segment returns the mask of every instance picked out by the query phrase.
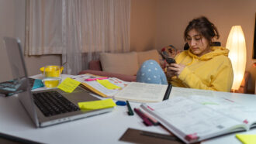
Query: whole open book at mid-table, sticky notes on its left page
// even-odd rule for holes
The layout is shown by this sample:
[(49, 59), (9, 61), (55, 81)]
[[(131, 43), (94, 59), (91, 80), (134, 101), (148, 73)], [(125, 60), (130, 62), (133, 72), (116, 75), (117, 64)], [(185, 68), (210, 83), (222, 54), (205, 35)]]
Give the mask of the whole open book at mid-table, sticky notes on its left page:
[[(108, 89), (98, 81), (86, 81), (87, 79), (101, 78), (93, 74), (82, 74), (72, 77), (76, 81), (81, 82), (81, 87), (88, 91), (92, 91), (104, 98), (114, 98), (122, 101), (135, 102), (159, 102), (169, 98), (171, 93), (171, 84), (146, 84), (139, 82), (126, 82), (116, 77), (108, 77), (108, 81), (115, 84), (119, 89)], [(105, 79), (105, 77), (104, 77)]]

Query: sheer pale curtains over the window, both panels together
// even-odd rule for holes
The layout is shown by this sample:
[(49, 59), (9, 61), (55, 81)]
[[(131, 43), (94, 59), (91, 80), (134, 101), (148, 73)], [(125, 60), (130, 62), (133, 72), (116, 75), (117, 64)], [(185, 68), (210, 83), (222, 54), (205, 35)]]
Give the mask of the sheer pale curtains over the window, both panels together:
[(99, 53), (130, 51), (131, 0), (29, 0), (26, 54), (62, 54), (64, 74)]

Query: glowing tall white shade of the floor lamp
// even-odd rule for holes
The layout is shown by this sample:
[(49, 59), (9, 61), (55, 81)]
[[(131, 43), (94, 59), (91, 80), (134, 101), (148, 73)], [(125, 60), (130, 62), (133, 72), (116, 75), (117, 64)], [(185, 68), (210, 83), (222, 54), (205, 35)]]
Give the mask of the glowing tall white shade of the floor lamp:
[(232, 26), (227, 38), (227, 49), (230, 50), (229, 58), (234, 71), (233, 90), (238, 90), (243, 81), (246, 65), (246, 45), (241, 26)]

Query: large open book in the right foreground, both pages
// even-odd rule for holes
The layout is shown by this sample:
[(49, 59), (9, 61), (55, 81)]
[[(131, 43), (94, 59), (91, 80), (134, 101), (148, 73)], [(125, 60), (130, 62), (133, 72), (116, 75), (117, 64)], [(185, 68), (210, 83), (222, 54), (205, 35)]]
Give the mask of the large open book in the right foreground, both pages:
[(140, 108), (186, 143), (256, 127), (256, 108), (220, 96), (173, 97), (168, 101), (142, 104)]

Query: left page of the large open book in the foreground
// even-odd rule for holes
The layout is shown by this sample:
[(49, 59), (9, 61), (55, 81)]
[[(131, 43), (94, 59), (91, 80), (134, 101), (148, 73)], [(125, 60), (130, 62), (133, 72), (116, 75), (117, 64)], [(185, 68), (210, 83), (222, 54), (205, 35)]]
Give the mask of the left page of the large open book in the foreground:
[(199, 140), (221, 135), (241, 123), (187, 98), (175, 97), (161, 103), (147, 104), (168, 124), (184, 135), (197, 135)]

